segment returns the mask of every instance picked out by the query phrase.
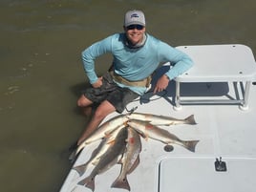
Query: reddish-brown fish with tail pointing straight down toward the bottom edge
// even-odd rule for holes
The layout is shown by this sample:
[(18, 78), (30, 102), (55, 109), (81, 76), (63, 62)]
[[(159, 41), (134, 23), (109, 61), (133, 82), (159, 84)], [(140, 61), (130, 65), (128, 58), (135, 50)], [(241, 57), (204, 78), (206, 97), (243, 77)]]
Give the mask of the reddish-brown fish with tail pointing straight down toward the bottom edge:
[(121, 171), (116, 181), (114, 181), (111, 187), (123, 188), (131, 190), (130, 184), (127, 181), (127, 175), (133, 172), (139, 165), (139, 153), (141, 151), (141, 141), (139, 133), (128, 127), (128, 138), (126, 151), (121, 159)]

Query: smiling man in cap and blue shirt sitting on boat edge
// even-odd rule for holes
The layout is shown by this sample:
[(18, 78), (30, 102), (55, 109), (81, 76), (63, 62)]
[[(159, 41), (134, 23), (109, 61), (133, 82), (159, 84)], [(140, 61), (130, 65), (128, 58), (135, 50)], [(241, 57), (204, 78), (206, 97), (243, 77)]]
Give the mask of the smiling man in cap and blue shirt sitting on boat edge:
[[(92, 88), (85, 90), (77, 105), (90, 114), (91, 106), (98, 104), (95, 114), (78, 139), (79, 145), (92, 134), (107, 115), (122, 113), (126, 104), (143, 95), (150, 83), (150, 76), (160, 63), (170, 61), (172, 67), (160, 76), (154, 93), (163, 91), (171, 79), (187, 71), (191, 59), (184, 53), (146, 33), (142, 11), (127, 11), (124, 32), (113, 34), (96, 42), (82, 53), (83, 65)], [(97, 77), (95, 59), (103, 53), (113, 54), (113, 69)]]

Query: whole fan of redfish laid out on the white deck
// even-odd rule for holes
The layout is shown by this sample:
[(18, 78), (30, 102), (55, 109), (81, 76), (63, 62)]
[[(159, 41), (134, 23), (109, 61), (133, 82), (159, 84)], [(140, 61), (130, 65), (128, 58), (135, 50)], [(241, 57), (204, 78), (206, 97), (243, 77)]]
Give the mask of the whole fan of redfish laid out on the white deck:
[(141, 151), (139, 135), (145, 139), (160, 140), (165, 144), (179, 144), (189, 151), (195, 152), (195, 147), (199, 140), (182, 140), (158, 127), (158, 125), (177, 124), (196, 124), (196, 122), (193, 115), (178, 119), (140, 113), (119, 115), (104, 122), (91, 137), (83, 140), (70, 157), (71, 160), (75, 159), (75, 156), (86, 145), (102, 139), (92, 153), (90, 160), (74, 167), (79, 175), (82, 176), (89, 166), (95, 166), (91, 174), (79, 181), (78, 184), (85, 185), (94, 191), (96, 175), (108, 170), (116, 163), (121, 163), (120, 174), (111, 186), (130, 190), (126, 176), (133, 172), (139, 164), (139, 153)]

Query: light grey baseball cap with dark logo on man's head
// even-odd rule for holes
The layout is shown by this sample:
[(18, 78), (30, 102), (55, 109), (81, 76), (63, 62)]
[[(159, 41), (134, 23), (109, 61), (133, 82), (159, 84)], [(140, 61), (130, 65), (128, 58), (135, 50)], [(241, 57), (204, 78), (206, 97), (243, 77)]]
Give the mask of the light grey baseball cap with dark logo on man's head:
[(124, 17), (124, 26), (127, 27), (130, 25), (145, 26), (146, 22), (145, 22), (144, 13), (142, 11), (137, 11), (137, 10), (127, 11)]

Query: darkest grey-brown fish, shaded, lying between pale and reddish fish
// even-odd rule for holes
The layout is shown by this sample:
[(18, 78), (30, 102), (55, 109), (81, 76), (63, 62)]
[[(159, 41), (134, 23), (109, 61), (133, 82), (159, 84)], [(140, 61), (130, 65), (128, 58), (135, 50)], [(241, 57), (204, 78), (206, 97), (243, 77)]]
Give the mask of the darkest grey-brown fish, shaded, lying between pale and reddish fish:
[(127, 136), (127, 129), (122, 128), (118, 132), (117, 139), (115, 140), (113, 146), (109, 147), (108, 150), (101, 156), (91, 174), (82, 181), (79, 181), (78, 184), (85, 185), (94, 191), (96, 175), (103, 173), (117, 163), (119, 155), (121, 155), (125, 150)]

